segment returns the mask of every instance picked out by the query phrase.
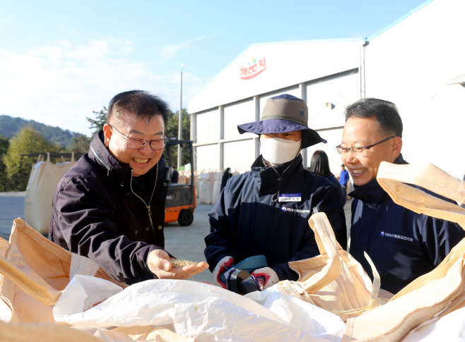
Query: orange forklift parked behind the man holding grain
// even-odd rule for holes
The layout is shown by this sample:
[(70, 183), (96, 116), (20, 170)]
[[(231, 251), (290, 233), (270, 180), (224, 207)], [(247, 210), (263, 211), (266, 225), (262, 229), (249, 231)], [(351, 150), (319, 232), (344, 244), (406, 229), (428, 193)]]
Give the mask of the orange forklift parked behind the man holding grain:
[(165, 204), (165, 224), (175, 222), (181, 226), (190, 226), (194, 221), (194, 209), (197, 207), (196, 189), (194, 188), (194, 154), (192, 149), (192, 140), (168, 140), (165, 153), (167, 154), (167, 164), (171, 162), (171, 149), (186, 145), (189, 147), (189, 156), (191, 162), (191, 182), (190, 184), (170, 184)]

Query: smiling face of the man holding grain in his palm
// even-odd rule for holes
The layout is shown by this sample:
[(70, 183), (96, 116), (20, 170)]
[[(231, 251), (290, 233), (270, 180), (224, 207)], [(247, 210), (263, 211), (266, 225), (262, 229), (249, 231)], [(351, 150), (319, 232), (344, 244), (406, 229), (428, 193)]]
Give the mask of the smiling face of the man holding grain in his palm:
[[(133, 114), (121, 115), (118, 121), (112, 125), (129, 138), (155, 140), (163, 139), (165, 123), (161, 115), (155, 115), (149, 123), (146, 119), (136, 119)], [(146, 143), (141, 149), (130, 149), (123, 135), (114, 130), (108, 123), (103, 126), (105, 146), (117, 161), (129, 164), (133, 170), (133, 176), (142, 176), (158, 163), (163, 154), (163, 149), (153, 150)]]

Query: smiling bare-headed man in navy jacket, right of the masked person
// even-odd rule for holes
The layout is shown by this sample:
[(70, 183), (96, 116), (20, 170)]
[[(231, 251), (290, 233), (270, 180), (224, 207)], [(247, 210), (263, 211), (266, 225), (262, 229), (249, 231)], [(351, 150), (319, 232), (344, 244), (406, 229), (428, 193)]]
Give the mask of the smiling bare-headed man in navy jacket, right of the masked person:
[(346, 109), (341, 145), (336, 147), (351, 173), (350, 252), (373, 279), (363, 252), (372, 259), (381, 288), (399, 292), (432, 269), (462, 238), (458, 225), (395, 204), (377, 183), (381, 161), (408, 164), (401, 155), (402, 121), (395, 104), (361, 99)]

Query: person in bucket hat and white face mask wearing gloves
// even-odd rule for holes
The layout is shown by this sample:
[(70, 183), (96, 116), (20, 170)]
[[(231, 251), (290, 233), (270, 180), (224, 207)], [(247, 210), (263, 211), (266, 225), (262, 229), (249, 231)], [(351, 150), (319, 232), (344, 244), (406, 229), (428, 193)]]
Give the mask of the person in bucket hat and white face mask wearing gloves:
[(288, 262), (319, 255), (308, 224), (314, 211), (328, 216), (346, 248), (338, 188), (302, 165), (302, 149), (326, 143), (307, 121), (305, 101), (282, 94), (266, 101), (261, 121), (237, 126), (241, 134), (259, 135), (261, 155), (252, 171), (228, 180), (208, 214), (211, 233), (205, 238), (205, 256), (216, 285), (226, 288), (220, 280), (226, 268), (254, 255), (265, 255), (268, 262), (252, 273), (264, 288), (297, 280)]

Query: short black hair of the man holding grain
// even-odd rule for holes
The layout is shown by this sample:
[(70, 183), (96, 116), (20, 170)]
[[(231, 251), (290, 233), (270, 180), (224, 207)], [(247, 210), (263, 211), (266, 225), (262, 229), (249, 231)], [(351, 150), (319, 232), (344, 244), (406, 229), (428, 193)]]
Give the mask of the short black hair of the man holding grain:
[(118, 120), (122, 111), (136, 114), (136, 118), (145, 118), (147, 122), (150, 122), (155, 115), (161, 115), (166, 128), (170, 105), (150, 92), (130, 90), (129, 92), (120, 92), (110, 100), (107, 122), (110, 123), (112, 118)]

